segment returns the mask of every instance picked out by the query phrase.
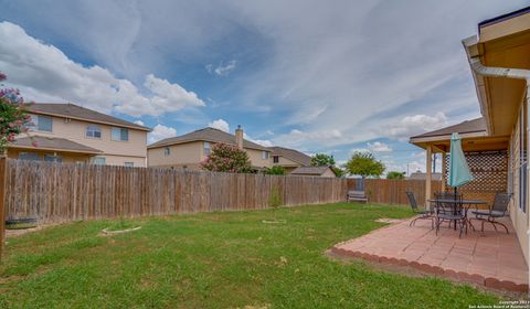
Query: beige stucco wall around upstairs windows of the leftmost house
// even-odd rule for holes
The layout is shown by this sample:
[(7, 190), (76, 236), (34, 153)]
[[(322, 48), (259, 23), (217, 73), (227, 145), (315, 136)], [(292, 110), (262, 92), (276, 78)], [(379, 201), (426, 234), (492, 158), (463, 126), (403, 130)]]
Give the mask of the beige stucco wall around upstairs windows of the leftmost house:
[[(114, 126), (94, 124), (83, 120), (66, 120), (62, 117), (52, 117), (52, 131), (31, 130), (30, 134), (45, 137), (65, 138), (72, 141), (102, 150), (97, 157), (104, 157), (106, 164), (123, 166), (134, 162), (135, 167), (146, 167), (147, 159), (147, 131), (128, 128), (128, 141), (110, 139)], [(86, 127), (97, 125), (102, 130), (100, 138), (86, 137)], [(119, 126), (115, 126), (119, 127)], [(11, 150), (8, 150), (11, 151)]]

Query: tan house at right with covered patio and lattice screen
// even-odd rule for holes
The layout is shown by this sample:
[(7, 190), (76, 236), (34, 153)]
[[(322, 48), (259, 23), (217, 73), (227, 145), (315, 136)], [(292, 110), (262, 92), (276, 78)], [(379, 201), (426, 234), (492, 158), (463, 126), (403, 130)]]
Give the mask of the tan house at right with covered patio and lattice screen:
[[(509, 215), (528, 263), (530, 7), (479, 23), (478, 35), (463, 44), (483, 117), (411, 138), (426, 149), (426, 196), (431, 195), (432, 153), (446, 157), (451, 134), (459, 132), (475, 178), (462, 189), (465, 196), (491, 201), (496, 192), (512, 193)], [(446, 174), (445, 163), (443, 170)]]

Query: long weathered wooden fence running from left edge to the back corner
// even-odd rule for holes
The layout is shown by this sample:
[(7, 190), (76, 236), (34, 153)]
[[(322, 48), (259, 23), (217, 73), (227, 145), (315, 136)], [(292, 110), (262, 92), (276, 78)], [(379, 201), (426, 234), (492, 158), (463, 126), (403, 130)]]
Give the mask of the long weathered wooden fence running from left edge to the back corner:
[(40, 223), (265, 209), (346, 200), (346, 179), (8, 160), (6, 213)]

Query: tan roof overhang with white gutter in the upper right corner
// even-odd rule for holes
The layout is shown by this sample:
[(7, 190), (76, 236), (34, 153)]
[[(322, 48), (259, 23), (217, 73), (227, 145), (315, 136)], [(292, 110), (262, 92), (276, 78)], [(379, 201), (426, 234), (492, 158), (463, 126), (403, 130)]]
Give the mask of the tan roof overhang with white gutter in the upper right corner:
[(530, 9), (481, 22), (463, 45), (488, 134), (510, 135), (527, 86), (510, 71), (530, 68)]

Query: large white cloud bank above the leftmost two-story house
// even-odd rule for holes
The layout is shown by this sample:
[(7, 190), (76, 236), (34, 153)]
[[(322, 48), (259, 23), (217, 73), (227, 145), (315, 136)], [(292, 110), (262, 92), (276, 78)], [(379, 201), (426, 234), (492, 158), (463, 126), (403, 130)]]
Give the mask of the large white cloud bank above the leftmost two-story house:
[(61, 50), (28, 35), (17, 24), (0, 23), (0, 67), (8, 83), (28, 99), (72, 102), (104, 113), (159, 116), (186, 107), (204, 106), (197, 94), (148, 74), (142, 94), (130, 81), (98, 65), (85, 67)]

